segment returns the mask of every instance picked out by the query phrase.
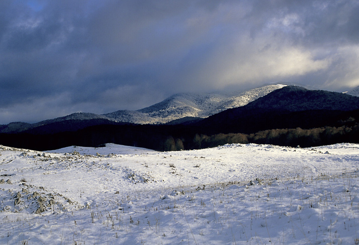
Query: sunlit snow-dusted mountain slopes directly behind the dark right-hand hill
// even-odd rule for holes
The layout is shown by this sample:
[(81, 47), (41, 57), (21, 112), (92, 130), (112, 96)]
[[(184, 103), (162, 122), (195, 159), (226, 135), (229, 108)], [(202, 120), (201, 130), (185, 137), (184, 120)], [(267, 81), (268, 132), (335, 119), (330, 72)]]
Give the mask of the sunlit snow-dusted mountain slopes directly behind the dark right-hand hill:
[(283, 86), (267, 85), (235, 94), (176, 94), (138, 111), (116, 111), (104, 116), (139, 124), (166, 123), (184, 117), (205, 118), (229, 108), (244, 106)]

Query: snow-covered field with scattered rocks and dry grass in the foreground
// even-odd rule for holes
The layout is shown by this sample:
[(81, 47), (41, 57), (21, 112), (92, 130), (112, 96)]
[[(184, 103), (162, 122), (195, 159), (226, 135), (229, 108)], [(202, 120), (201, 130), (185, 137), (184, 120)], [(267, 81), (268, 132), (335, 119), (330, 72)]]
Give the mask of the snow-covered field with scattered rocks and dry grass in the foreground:
[(358, 144), (0, 154), (0, 244), (359, 244)]

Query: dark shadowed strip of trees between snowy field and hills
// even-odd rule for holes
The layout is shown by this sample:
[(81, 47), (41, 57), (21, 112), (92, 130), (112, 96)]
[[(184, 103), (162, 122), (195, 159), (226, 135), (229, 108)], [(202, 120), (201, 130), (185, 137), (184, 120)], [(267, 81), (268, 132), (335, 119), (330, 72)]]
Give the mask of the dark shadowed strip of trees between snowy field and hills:
[(303, 129), (266, 129), (251, 133), (211, 133), (188, 125), (94, 125), (59, 133), (0, 134), (0, 144), (33, 150), (53, 150), (66, 146), (92, 146), (115, 143), (158, 151), (190, 150), (230, 143), (273, 144), (311, 147), (334, 143), (359, 143), (356, 114), (334, 125)]

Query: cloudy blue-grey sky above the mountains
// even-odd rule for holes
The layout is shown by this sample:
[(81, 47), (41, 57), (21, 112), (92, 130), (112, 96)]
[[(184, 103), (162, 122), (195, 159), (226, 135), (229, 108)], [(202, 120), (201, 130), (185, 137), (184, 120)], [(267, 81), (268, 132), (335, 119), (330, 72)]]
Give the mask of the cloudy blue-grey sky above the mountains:
[(359, 86), (359, 0), (0, 0), (0, 124), (183, 92)]

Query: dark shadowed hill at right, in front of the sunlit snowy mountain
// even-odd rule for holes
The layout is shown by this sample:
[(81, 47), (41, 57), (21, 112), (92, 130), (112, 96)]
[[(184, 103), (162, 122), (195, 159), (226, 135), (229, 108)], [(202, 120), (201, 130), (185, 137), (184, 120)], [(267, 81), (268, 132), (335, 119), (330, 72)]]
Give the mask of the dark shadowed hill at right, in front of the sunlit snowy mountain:
[(334, 125), (337, 120), (350, 117), (350, 113), (345, 112), (358, 109), (358, 97), (287, 86), (246, 106), (223, 111), (192, 125), (207, 133), (254, 133), (276, 128), (312, 128)]

